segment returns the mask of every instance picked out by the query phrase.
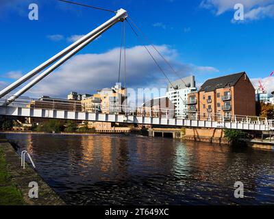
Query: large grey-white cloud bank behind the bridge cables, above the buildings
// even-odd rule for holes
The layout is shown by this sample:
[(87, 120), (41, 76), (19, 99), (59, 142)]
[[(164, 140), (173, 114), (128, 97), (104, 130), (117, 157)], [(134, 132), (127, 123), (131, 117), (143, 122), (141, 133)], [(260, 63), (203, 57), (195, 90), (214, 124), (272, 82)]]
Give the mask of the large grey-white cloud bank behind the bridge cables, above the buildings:
[[(186, 77), (195, 70), (214, 70), (212, 67), (199, 67), (176, 60), (177, 51), (166, 45), (157, 46), (158, 50), (175, 67), (180, 77)], [(149, 47), (151, 51), (153, 49)], [(65, 97), (71, 90), (79, 93), (93, 93), (96, 90), (113, 86), (118, 81), (119, 48), (100, 54), (76, 55), (54, 73), (40, 81), (25, 95)], [(153, 53), (159, 64), (169, 69), (157, 53)], [(178, 79), (169, 69), (169, 79)], [(121, 79), (124, 78), (123, 70)], [(168, 81), (141, 46), (127, 49), (127, 86), (129, 88), (166, 88)], [(25, 96), (24, 95), (24, 96)]]

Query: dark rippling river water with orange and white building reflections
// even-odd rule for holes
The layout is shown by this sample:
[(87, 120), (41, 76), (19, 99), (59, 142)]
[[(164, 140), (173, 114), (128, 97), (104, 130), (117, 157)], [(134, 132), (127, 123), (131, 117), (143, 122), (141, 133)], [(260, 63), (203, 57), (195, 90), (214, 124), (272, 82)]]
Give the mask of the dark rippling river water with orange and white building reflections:
[[(274, 204), (274, 153), (139, 136), (6, 134), (68, 204)], [(245, 198), (234, 198), (234, 183)]]

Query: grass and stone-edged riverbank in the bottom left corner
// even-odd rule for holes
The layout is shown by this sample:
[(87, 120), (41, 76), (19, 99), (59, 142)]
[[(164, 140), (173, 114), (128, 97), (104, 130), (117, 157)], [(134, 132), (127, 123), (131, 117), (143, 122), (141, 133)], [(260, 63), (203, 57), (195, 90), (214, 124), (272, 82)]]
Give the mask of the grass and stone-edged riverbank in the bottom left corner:
[[(0, 205), (65, 205), (27, 163), (23, 170), (21, 158), (5, 139), (0, 139), (0, 161)], [(38, 198), (29, 198), (33, 181), (38, 183)]]

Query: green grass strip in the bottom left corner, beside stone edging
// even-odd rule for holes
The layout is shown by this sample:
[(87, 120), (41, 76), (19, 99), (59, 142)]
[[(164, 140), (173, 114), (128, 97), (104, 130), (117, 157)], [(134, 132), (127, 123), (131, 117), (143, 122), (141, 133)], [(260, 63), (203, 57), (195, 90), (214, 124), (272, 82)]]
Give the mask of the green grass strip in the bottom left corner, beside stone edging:
[(0, 149), (0, 205), (23, 205), (23, 195), (12, 182), (7, 163)]

